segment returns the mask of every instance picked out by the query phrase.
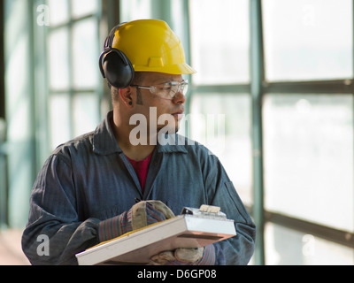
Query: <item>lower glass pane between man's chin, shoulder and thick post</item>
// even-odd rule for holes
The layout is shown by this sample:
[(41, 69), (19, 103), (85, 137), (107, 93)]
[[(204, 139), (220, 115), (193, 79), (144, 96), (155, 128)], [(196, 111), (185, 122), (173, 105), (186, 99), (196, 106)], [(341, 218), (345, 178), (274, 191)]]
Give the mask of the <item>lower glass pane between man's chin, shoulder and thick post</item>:
[(219, 157), (242, 201), (253, 203), (250, 96), (195, 94), (190, 110), (191, 114), (185, 119), (190, 126), (190, 138), (204, 144)]

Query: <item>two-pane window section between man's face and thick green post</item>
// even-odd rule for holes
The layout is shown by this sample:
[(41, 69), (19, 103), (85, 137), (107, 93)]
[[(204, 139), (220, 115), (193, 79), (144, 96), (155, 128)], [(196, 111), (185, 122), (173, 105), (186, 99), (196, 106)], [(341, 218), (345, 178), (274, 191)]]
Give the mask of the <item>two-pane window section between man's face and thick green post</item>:
[(190, 54), (196, 74), (190, 137), (219, 157), (251, 205), (249, 1), (190, 0)]

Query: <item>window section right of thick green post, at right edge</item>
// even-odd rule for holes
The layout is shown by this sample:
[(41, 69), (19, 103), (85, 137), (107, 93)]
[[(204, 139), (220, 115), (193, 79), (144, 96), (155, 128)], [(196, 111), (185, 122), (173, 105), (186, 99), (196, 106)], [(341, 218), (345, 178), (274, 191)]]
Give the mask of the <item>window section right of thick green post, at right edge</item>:
[(353, 264), (352, 1), (261, 11), (265, 264)]

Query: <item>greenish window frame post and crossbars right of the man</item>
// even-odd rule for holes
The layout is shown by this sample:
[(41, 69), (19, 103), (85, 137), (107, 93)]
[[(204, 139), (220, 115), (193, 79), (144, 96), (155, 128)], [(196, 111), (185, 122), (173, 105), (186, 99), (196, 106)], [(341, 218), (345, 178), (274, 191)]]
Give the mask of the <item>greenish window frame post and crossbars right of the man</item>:
[[(333, 241), (352, 249), (354, 253), (354, 232), (343, 231), (329, 226), (322, 226), (304, 219), (289, 217), (265, 208), (264, 183), (264, 146), (263, 146), (263, 101), (267, 94), (350, 94), (354, 96), (354, 78), (343, 80), (299, 80), (299, 81), (266, 81), (265, 52), (262, 19), (262, 0), (250, 0), (250, 84), (235, 85), (200, 85), (191, 81), (189, 101), (193, 93), (203, 92), (205, 95), (218, 92), (238, 94), (249, 93), (251, 97), (251, 139), (252, 139), (252, 190), (253, 204), (246, 206), (250, 211), (258, 230), (254, 264), (266, 264), (265, 226), (273, 223), (290, 229), (310, 233), (321, 239)], [(354, 6), (354, 5), (353, 5)], [(190, 11), (187, 5), (189, 17)], [(353, 24), (354, 25), (354, 24)], [(354, 27), (353, 27), (354, 31)], [(353, 42), (354, 46), (354, 42)], [(190, 53), (190, 45), (189, 45)], [(354, 64), (354, 62), (353, 62)], [(352, 105), (354, 107), (354, 105)], [(190, 110), (190, 107), (188, 108)], [(354, 157), (353, 157), (354, 158)], [(354, 187), (353, 187), (354, 189)]]

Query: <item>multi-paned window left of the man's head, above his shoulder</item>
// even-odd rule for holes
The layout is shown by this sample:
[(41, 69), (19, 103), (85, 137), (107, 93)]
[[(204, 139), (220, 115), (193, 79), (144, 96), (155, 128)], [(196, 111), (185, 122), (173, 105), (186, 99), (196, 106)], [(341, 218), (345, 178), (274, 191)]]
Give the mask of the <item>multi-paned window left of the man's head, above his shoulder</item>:
[(50, 0), (49, 116), (51, 149), (93, 131), (100, 117), (97, 0)]

